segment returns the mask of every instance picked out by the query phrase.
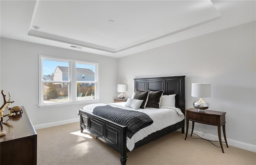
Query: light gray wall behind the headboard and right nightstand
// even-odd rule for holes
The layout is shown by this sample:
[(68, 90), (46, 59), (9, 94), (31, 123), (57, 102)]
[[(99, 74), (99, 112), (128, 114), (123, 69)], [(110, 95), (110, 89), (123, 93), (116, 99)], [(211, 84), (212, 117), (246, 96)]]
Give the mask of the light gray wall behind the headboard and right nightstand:
[[(126, 96), (131, 97), (134, 78), (186, 76), (189, 109), (198, 100), (191, 97), (191, 83), (210, 82), (212, 97), (204, 100), (210, 103), (209, 109), (226, 112), (230, 144), (248, 143), (255, 150), (255, 44), (252, 22), (118, 58), (118, 68), (126, 68), (118, 72), (118, 83), (128, 84)], [(218, 135), (217, 127), (211, 125), (195, 123), (195, 130), (216, 138)]]

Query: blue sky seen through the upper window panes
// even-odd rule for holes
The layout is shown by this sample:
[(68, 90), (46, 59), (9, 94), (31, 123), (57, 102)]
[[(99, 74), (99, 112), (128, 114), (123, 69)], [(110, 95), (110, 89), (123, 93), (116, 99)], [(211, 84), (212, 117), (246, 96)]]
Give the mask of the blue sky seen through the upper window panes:
[[(43, 60), (43, 75), (52, 75), (52, 73), (54, 73), (57, 66), (67, 66), (68, 67), (68, 62)], [(95, 72), (95, 66), (93, 66), (93, 65), (76, 64), (76, 68), (90, 69), (93, 72)]]

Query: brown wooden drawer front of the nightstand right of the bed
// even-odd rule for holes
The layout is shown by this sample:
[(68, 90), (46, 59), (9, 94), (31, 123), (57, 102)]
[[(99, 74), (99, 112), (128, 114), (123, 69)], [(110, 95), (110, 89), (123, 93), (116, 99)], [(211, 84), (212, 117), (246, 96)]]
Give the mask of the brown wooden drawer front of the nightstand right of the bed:
[(220, 125), (220, 116), (206, 115), (202, 113), (193, 113), (190, 111), (186, 111), (186, 118), (200, 123)]

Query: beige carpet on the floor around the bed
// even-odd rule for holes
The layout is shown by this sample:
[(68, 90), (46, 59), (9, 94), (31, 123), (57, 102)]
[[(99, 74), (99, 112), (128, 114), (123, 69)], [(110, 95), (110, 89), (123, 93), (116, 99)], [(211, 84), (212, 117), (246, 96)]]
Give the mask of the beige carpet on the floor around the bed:
[[(38, 165), (120, 165), (119, 153), (80, 133), (79, 123), (36, 130)], [(127, 165), (255, 165), (256, 153), (223, 143), (224, 152), (208, 141), (184, 140), (179, 131), (170, 133), (127, 153)], [(196, 137), (196, 136), (192, 136)], [(219, 143), (214, 142), (219, 146)]]

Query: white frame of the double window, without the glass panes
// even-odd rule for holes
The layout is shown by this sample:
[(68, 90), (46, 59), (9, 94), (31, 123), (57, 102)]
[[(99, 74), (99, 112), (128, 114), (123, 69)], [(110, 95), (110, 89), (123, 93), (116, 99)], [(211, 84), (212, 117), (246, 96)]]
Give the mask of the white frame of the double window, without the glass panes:
[[(43, 70), (42, 70), (42, 64), (43, 60), (51, 60), (51, 61), (61, 61), (61, 62), (69, 62), (69, 76), (68, 81), (46, 81), (43, 80)], [(79, 64), (89, 64), (95, 66), (95, 81), (90, 83), (95, 83), (95, 97), (94, 99), (87, 99), (87, 100), (77, 100), (76, 95), (76, 83), (82, 82), (82, 83), (89, 83), (86, 81), (76, 81), (76, 63)], [(93, 103), (99, 101), (99, 79), (98, 79), (98, 69), (99, 69), (99, 63), (97, 62), (89, 62), (89, 61), (82, 61), (82, 60), (76, 60), (76, 59), (70, 59), (70, 58), (60, 58), (60, 57), (54, 57), (54, 56), (44, 56), (39, 55), (39, 107), (50, 107), (50, 106), (58, 106), (58, 105), (66, 105), (66, 104), (78, 104), (78, 103)], [(62, 101), (59, 103), (44, 103), (44, 94), (43, 94), (43, 84), (44, 83), (68, 83), (68, 101)]]

